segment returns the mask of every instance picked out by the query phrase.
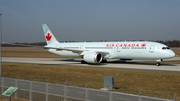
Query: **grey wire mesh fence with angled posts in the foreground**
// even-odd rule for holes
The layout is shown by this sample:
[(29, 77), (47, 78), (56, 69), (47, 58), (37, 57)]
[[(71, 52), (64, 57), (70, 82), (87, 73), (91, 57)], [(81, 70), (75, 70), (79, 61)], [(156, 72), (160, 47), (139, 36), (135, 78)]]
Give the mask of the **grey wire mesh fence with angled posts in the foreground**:
[[(81, 87), (42, 83), (27, 80), (0, 78), (1, 94), (9, 87), (19, 87), (19, 93), (13, 97), (30, 101), (172, 101), (110, 91), (101, 91)], [(175, 99), (173, 100), (175, 101)]]

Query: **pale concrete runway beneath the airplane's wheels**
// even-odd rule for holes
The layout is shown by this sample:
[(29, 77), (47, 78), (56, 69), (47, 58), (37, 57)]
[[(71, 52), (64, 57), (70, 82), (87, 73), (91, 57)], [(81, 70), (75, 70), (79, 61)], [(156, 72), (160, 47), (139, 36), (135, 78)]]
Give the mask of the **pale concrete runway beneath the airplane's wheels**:
[[(115, 70), (130, 70), (130, 71), (145, 71), (145, 72), (160, 72), (160, 73), (175, 73), (180, 74), (180, 64), (161, 63), (161, 66), (156, 66), (154, 63), (147, 61), (133, 60), (123, 62), (119, 60), (108, 60), (108, 63), (101, 64), (81, 64), (82, 59), (68, 58), (13, 58), (2, 57), (3, 63), (18, 63), (18, 64), (34, 64), (34, 65), (51, 65), (51, 66), (67, 66), (81, 68), (97, 68), (97, 69), (115, 69)], [(178, 61), (180, 57), (174, 57), (165, 61)]]

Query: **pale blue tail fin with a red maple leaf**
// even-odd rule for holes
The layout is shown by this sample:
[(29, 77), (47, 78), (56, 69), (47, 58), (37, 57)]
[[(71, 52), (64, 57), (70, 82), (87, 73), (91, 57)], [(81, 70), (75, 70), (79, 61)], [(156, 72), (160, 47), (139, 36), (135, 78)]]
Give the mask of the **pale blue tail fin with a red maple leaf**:
[(59, 43), (46, 24), (42, 24), (47, 45)]

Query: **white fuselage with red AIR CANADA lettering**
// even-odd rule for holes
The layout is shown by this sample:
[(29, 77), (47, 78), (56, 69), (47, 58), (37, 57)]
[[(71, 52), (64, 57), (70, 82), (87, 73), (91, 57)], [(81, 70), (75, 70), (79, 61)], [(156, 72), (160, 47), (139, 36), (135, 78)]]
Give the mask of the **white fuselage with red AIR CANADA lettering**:
[[(47, 46), (49, 47), (49, 46)], [(51, 47), (83, 51), (109, 52), (103, 59), (168, 59), (175, 56), (166, 45), (157, 42), (131, 41), (131, 42), (76, 42), (57, 43)], [(165, 47), (165, 49), (163, 49)], [(67, 57), (80, 57), (79, 54), (67, 50), (48, 49), (57, 55)]]

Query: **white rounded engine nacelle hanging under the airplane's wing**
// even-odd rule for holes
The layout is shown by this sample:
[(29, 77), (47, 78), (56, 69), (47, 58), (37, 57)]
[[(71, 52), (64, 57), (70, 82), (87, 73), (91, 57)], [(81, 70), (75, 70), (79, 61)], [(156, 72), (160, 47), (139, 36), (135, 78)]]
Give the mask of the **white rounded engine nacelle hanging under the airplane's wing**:
[(86, 53), (83, 58), (87, 63), (100, 63), (102, 61), (102, 55), (97, 52)]

